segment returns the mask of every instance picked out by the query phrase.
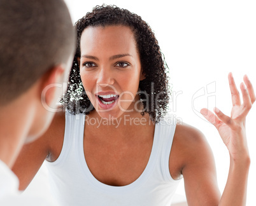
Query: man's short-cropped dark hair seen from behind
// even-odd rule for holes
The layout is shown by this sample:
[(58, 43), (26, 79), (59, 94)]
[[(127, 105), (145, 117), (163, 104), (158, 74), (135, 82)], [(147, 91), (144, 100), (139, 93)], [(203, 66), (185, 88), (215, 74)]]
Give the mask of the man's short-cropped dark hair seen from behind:
[(63, 0), (1, 0), (0, 105), (66, 64), (74, 50), (75, 31)]

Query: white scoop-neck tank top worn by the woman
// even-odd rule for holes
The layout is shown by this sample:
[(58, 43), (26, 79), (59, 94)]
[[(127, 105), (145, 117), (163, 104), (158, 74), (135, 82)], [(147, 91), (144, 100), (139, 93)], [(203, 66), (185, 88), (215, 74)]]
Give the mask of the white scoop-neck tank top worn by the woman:
[(62, 206), (169, 206), (180, 181), (169, 172), (176, 123), (155, 124), (153, 146), (143, 173), (127, 186), (109, 186), (90, 172), (83, 152), (85, 115), (66, 113), (64, 143), (59, 158), (46, 162), (53, 196)]

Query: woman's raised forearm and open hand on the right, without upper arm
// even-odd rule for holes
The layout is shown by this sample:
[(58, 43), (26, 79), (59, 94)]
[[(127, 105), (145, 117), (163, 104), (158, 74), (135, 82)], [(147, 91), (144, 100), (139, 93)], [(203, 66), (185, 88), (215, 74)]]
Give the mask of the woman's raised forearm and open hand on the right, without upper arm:
[(217, 108), (215, 108), (216, 115), (208, 109), (201, 110), (204, 117), (217, 128), (230, 155), (229, 176), (218, 205), (246, 205), (250, 155), (246, 141), (245, 119), (255, 102), (255, 93), (248, 77), (244, 76), (243, 79), (245, 84), (240, 85), (243, 95), (243, 104), (241, 104), (234, 78), (229, 73), (229, 87), (232, 95), (231, 117)]

